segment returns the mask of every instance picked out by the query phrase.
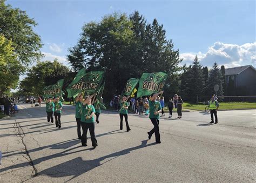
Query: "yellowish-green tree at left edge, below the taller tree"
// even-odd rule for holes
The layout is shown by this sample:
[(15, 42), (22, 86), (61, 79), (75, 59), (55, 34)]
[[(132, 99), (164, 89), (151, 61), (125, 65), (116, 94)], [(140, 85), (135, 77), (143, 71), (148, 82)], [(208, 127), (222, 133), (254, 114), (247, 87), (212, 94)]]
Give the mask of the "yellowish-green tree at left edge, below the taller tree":
[(0, 93), (15, 89), (21, 72), (21, 64), (12, 48), (12, 41), (0, 35)]

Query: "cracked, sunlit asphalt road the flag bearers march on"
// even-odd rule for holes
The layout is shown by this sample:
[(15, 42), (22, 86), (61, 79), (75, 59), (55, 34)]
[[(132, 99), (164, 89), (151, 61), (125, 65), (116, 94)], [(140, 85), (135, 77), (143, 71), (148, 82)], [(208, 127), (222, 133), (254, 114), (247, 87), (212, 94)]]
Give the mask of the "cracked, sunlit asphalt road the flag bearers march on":
[(0, 182), (255, 182), (256, 110), (218, 111), (214, 125), (205, 112), (166, 115), (161, 144), (147, 138), (148, 117), (129, 114), (126, 132), (117, 112), (102, 111), (92, 148), (77, 137), (74, 106), (64, 105), (60, 129), (44, 104), (19, 108), (0, 120)]

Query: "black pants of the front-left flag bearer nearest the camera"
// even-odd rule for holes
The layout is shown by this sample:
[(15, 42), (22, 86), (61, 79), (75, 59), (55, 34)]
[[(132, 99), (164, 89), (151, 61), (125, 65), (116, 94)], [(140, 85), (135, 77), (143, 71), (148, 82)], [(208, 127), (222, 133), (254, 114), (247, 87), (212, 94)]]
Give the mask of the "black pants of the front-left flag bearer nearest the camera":
[(83, 146), (87, 145), (87, 131), (89, 128), (90, 135), (91, 135), (91, 141), (92, 141), (92, 146), (95, 147), (98, 145), (97, 140), (95, 138), (95, 123), (84, 123), (81, 121), (81, 126), (83, 129), (83, 134), (81, 138), (81, 142)]

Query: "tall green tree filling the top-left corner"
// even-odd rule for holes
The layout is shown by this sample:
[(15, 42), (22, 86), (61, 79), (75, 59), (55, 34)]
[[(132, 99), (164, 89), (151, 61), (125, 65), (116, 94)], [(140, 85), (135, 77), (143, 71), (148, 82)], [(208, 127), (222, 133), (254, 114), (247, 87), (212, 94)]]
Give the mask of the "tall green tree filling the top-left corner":
[(33, 31), (36, 22), (26, 15), (25, 11), (13, 9), (5, 5), (5, 0), (0, 0), (0, 34), (12, 40), (17, 59), (23, 65), (42, 57), (41, 38)]

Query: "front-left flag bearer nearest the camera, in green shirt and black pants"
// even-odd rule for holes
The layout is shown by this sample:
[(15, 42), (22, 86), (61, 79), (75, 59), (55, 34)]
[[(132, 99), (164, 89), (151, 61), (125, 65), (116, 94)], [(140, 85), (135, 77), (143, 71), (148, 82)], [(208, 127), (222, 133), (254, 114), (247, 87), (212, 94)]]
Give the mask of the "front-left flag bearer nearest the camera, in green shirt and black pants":
[(85, 97), (82, 105), (82, 116), (81, 116), (81, 126), (83, 129), (83, 134), (81, 138), (82, 146), (87, 146), (87, 130), (89, 128), (92, 146), (97, 147), (98, 143), (95, 137), (95, 108), (91, 105), (91, 99), (96, 93), (92, 94), (90, 97)]

